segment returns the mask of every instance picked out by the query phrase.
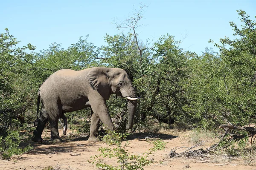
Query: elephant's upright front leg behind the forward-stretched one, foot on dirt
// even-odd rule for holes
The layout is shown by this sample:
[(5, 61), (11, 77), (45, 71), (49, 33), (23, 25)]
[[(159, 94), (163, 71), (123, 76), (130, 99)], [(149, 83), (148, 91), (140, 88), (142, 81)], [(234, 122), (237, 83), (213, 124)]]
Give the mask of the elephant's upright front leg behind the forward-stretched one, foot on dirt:
[(91, 117), (91, 125), (90, 125), (90, 137), (88, 139), (89, 142), (97, 142), (99, 141), (99, 138), (97, 138), (96, 133), (99, 129), (99, 117), (96, 116), (95, 113), (92, 114)]

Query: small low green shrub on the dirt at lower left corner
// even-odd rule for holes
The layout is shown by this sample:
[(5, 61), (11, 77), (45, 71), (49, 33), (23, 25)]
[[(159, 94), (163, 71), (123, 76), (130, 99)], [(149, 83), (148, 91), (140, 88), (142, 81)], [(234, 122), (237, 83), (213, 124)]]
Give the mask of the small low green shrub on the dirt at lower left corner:
[(18, 148), (21, 142), (21, 136), (18, 131), (11, 131), (4, 138), (0, 136), (0, 156), (2, 159), (10, 159), (12, 155), (19, 155), (31, 150), (33, 147), (26, 146), (24, 149)]

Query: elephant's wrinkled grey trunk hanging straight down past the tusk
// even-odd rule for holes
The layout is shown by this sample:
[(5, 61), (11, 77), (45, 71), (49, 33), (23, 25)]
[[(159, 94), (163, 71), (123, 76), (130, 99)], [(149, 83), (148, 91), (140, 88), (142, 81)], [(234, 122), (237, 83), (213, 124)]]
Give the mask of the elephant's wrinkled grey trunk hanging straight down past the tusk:
[[(136, 98), (136, 94), (131, 95), (132, 98)], [(131, 129), (134, 123), (134, 113), (136, 111), (137, 100), (129, 100), (128, 99), (128, 125), (126, 125), (126, 129)]]

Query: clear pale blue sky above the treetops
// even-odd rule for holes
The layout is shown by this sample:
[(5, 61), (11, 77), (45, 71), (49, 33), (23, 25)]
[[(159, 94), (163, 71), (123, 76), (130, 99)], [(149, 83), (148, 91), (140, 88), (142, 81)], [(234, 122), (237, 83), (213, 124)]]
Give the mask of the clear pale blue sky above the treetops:
[(156, 41), (169, 33), (175, 40), (185, 37), (180, 47), (198, 54), (213, 47), (209, 39), (232, 37), (229, 21), (240, 25), (236, 10), (246, 11), (252, 20), (256, 16), (256, 0), (4, 0), (0, 32), (8, 28), (20, 45), (31, 43), (36, 51), (52, 42), (67, 48), (87, 34), (88, 42), (99, 47), (106, 45), (106, 34), (129, 31), (117, 30), (111, 22), (129, 18), (140, 2), (148, 6), (137, 29), (140, 40)]

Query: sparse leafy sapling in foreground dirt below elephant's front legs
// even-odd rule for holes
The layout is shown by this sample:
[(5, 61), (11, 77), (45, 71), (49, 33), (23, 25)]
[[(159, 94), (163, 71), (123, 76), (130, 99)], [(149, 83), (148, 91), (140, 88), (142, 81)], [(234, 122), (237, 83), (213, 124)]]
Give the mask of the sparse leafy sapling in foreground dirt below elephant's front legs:
[[(98, 151), (101, 153), (99, 155), (91, 156), (89, 163), (96, 163), (97, 168), (105, 170), (143, 170), (143, 167), (153, 163), (153, 160), (148, 159), (148, 156), (156, 150), (161, 150), (165, 148), (165, 143), (161, 140), (156, 140), (152, 142), (154, 146), (149, 149), (149, 152), (143, 153), (143, 156), (131, 155), (125, 148), (128, 146), (128, 142), (122, 146), (122, 139), (126, 139), (127, 133), (116, 133), (109, 131), (108, 135), (103, 137), (103, 141), (110, 147), (100, 147)], [(104, 158), (115, 158), (117, 163), (120, 165), (109, 165), (103, 162)], [(102, 159), (103, 158), (103, 159)]]

